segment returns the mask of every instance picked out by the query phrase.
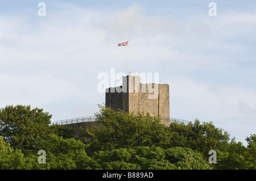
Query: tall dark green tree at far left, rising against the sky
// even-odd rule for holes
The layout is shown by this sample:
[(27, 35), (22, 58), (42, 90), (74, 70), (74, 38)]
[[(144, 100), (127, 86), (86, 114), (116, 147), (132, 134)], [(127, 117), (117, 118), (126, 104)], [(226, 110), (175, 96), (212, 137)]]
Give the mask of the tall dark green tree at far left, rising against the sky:
[(13, 149), (27, 153), (51, 133), (49, 124), (52, 115), (43, 109), (30, 106), (6, 106), (0, 109), (0, 136)]

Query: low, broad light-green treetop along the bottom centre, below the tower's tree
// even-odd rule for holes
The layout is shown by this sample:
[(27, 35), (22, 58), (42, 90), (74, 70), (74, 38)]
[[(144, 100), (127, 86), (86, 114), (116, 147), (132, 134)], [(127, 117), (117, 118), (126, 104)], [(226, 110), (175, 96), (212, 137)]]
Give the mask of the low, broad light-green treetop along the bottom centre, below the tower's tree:
[(98, 151), (88, 162), (89, 169), (210, 169), (201, 154), (189, 148), (162, 149), (155, 146), (136, 146)]

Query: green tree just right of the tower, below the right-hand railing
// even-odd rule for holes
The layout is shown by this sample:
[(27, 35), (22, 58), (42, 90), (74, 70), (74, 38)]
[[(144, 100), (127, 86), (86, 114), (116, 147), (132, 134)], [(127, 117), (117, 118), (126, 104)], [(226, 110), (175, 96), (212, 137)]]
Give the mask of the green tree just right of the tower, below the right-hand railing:
[(212, 122), (200, 124), (195, 120), (193, 124), (170, 124), (171, 146), (184, 146), (198, 150), (209, 157), (209, 150), (225, 150), (229, 141), (229, 133), (222, 128), (215, 127)]

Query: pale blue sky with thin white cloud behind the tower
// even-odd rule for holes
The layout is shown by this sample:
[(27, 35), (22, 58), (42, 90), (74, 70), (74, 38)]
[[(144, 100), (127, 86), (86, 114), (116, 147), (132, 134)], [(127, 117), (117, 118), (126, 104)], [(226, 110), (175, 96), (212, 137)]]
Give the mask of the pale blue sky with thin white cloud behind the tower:
[(212, 121), (246, 146), (256, 130), (255, 7), (0, 0), (0, 108), (43, 108), (52, 122), (93, 116), (105, 103), (98, 75), (127, 74), (127, 47), (117, 45), (129, 40), (130, 71), (159, 73), (159, 83), (169, 84), (170, 117)]

